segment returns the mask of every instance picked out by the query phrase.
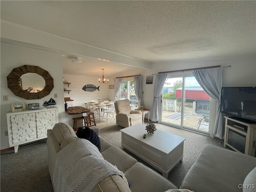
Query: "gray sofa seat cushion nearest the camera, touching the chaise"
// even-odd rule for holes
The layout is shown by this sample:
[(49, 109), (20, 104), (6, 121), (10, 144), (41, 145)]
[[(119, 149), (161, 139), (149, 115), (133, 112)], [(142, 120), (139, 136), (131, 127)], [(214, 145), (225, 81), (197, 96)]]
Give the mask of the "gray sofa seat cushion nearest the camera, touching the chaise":
[(124, 174), (132, 192), (163, 192), (168, 189), (177, 189), (168, 179), (142, 163), (134, 164)]

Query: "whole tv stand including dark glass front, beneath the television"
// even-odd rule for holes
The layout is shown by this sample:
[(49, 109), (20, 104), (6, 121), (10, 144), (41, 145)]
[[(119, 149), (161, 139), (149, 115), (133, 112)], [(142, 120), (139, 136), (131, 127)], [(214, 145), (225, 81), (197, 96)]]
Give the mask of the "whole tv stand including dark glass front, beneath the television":
[(224, 147), (228, 146), (236, 152), (256, 157), (256, 124), (236, 120), (233, 116), (224, 118)]

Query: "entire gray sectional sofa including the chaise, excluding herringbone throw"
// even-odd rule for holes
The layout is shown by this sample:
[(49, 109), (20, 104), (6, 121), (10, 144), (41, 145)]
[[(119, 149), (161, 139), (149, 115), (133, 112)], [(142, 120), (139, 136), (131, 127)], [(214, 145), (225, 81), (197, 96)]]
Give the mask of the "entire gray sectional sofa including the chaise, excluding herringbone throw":
[[(130, 187), (118, 175), (110, 175), (100, 181), (92, 192), (255, 192), (256, 158), (217, 146), (206, 145), (193, 166), (186, 174), (180, 189), (120, 148), (113, 146), (99, 134), (98, 127), (92, 128), (100, 139), (99, 154), (104, 160), (124, 172)], [(56, 157), (58, 152), (69, 148), (80, 140), (68, 125), (58, 123), (48, 130), (47, 148), (49, 172), (54, 186)], [(70, 144), (70, 145), (69, 145)], [(95, 147), (95, 146), (94, 146)], [(64, 185), (64, 184), (63, 184)], [(54, 188), (54, 191), (63, 191)]]

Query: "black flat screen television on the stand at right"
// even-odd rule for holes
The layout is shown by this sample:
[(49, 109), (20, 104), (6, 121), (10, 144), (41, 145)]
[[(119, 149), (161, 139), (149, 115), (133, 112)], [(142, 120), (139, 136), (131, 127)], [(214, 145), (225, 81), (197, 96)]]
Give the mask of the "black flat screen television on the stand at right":
[(256, 87), (222, 87), (221, 111), (233, 119), (256, 123)]

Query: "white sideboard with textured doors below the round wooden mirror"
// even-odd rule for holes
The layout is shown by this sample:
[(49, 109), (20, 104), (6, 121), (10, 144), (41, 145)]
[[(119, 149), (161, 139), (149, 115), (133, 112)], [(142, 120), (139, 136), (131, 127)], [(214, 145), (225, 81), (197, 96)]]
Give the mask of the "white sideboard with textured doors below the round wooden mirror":
[(47, 130), (58, 123), (58, 108), (8, 112), (6, 118), (9, 145), (16, 153), (21, 144), (47, 138)]

